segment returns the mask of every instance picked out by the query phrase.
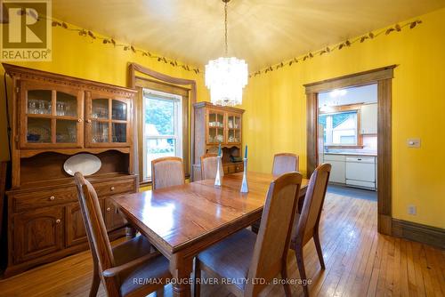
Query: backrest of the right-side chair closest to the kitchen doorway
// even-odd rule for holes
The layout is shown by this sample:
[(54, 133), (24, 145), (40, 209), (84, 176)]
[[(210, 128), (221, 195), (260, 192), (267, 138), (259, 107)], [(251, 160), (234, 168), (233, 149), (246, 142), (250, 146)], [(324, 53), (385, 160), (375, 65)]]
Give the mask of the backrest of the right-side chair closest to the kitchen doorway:
[(331, 165), (322, 164), (312, 173), (306, 196), (304, 197), (302, 212), (298, 221), (295, 221), (296, 232), (295, 238), (292, 238), (293, 242), (300, 241), (300, 244), (304, 245), (318, 231), (330, 172)]

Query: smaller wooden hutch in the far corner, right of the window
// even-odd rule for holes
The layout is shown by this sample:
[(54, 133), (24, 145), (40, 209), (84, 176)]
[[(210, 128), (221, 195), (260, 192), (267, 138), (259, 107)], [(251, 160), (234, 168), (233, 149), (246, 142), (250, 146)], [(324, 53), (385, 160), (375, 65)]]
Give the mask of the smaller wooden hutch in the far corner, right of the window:
[(201, 179), (201, 156), (217, 153), (221, 143), (223, 149), (223, 169), (225, 174), (244, 170), (242, 162), (241, 135), (243, 109), (216, 106), (209, 102), (194, 104), (195, 149), (192, 165), (193, 181)]

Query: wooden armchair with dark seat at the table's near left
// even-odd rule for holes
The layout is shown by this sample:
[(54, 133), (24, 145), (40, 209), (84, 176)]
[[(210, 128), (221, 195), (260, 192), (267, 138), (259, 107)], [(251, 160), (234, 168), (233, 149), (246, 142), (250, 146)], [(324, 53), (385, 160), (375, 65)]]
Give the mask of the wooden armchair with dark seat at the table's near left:
[[(150, 242), (143, 236), (111, 247), (96, 191), (81, 173), (75, 173), (74, 177), (86, 237), (93, 255), (90, 297), (96, 296), (101, 281), (109, 297), (146, 296), (162, 288), (171, 277), (169, 261), (158, 252), (150, 253)], [(164, 282), (139, 283), (134, 279), (161, 279)]]

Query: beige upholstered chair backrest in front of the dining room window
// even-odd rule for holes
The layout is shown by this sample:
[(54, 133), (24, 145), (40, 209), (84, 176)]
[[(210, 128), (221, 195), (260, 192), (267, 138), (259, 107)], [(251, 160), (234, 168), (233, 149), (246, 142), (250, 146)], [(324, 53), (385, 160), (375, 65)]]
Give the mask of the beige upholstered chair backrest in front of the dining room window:
[(162, 189), (179, 186), (184, 181), (184, 166), (180, 157), (159, 157), (151, 161), (151, 187)]

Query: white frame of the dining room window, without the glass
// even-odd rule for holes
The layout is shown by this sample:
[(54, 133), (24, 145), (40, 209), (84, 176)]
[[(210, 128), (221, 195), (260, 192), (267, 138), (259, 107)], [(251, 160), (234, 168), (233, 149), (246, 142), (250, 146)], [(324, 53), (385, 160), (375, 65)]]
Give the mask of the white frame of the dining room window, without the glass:
[[(143, 173), (147, 172), (147, 166), (149, 166), (146, 160), (147, 154), (147, 140), (148, 139), (175, 139), (176, 143), (176, 157), (182, 157), (182, 96), (178, 94), (173, 94), (169, 92), (160, 92), (155, 90), (150, 90), (147, 88), (142, 89), (142, 129), (145, 127), (145, 98), (148, 96), (152, 96), (158, 99), (164, 100), (174, 100), (178, 102), (178, 104), (174, 104), (174, 134), (175, 135), (157, 135), (157, 136), (148, 136), (145, 137), (145, 133), (142, 130), (142, 164), (143, 164)], [(150, 177), (149, 177), (150, 180)]]

